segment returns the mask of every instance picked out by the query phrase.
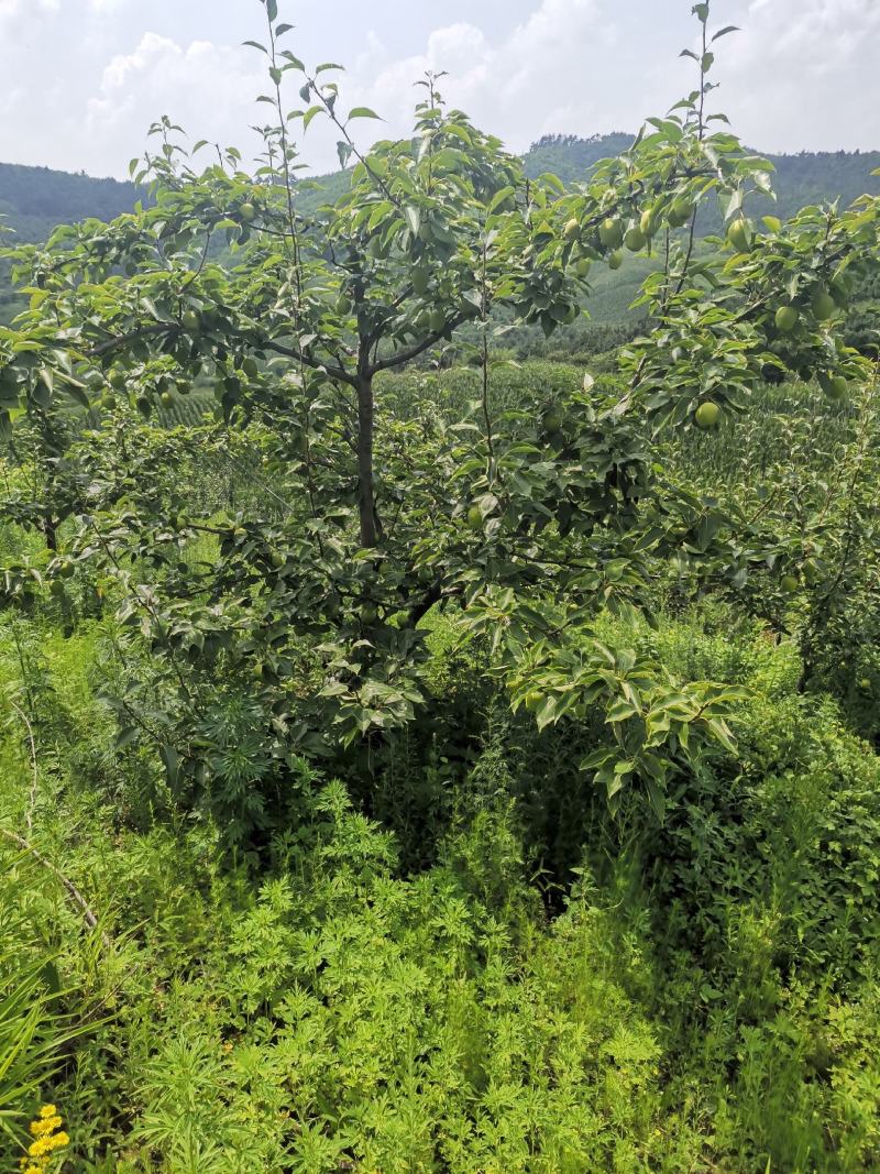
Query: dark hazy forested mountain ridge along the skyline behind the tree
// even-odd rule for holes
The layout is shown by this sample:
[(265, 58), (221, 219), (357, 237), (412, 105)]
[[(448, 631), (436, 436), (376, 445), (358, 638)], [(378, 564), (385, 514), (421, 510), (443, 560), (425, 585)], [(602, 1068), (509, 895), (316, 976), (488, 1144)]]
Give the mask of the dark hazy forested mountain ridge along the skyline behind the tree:
[[(524, 155), (526, 171), (532, 177), (553, 171), (563, 182), (573, 183), (588, 177), (601, 158), (617, 155), (632, 142), (623, 131), (593, 135), (546, 135)], [(840, 198), (852, 203), (864, 193), (880, 194), (880, 176), (872, 170), (880, 168), (878, 151), (801, 151), (798, 155), (767, 155), (776, 167), (777, 202), (756, 202), (754, 210), (771, 207), (781, 216), (790, 216), (806, 204)], [(334, 171), (304, 183), (303, 203), (313, 208), (326, 198), (341, 195), (346, 174)], [(93, 178), (83, 173), (70, 174), (46, 167), (23, 167), (0, 163), (0, 241), (43, 241), (57, 224), (88, 217), (113, 220), (131, 211), (144, 193), (133, 183), (120, 180)], [(705, 229), (715, 228), (712, 217)], [(2, 229), (15, 235), (7, 237)], [(8, 322), (20, 305), (9, 286), (8, 269), (0, 264), (0, 323)]]

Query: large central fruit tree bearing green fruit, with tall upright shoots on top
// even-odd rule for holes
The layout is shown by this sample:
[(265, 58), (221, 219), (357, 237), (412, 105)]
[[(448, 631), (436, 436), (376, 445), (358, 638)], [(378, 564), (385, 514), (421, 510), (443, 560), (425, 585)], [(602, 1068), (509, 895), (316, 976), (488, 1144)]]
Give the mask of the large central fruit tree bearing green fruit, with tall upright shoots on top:
[[(163, 119), (158, 150), (133, 163), (149, 203), (18, 250), (31, 311), (0, 333), (4, 427), (13, 405), (63, 412), (66, 392), (102, 413), (73, 463), (70, 545), (113, 580), (121, 618), (156, 653), (155, 680), (116, 699), (122, 738), (158, 741), (181, 794), (223, 794), (259, 822), (265, 780), (276, 785), (297, 754), (412, 720), (425, 699), (419, 621), (455, 600), (513, 704), (542, 727), (603, 707), (608, 744), (585, 769), (611, 799), (642, 778), (662, 811), (672, 772), (731, 748), (733, 695), (605, 648), (595, 620), (647, 606), (658, 560), (700, 535), (708, 554), (736, 519), (665, 475), (651, 433), (717, 429), (769, 372), (815, 373), (832, 396), (864, 380), (838, 311), (876, 263), (878, 201), (747, 218), (772, 168), (708, 113), (712, 45), (733, 32), (711, 33), (708, 4), (693, 7), (699, 42), (685, 50), (698, 88), (574, 190), (528, 180), (447, 109), (435, 75), (412, 136), (361, 151), (354, 128), (377, 115), (346, 112), (339, 67), (307, 69), (284, 47), (275, 0), (263, 7), (265, 34), (249, 43), (275, 121), (253, 174), (219, 148), (198, 170), (209, 144), (185, 154)], [(350, 190), (316, 209), (296, 142), (317, 120), (352, 167)], [(698, 243), (710, 200), (726, 235)], [(603, 396), (587, 376), (577, 394), (494, 418), (496, 312), (549, 335), (580, 313), (593, 266), (618, 269), (628, 252), (659, 266), (642, 296), (655, 326), (621, 355), (625, 392)], [(461, 336), (481, 376), (473, 412), (391, 411), (381, 377)], [(215, 429), (170, 441), (134, 429), (133, 411), (149, 418), (204, 383)], [(175, 478), (169, 444), (187, 460), (194, 445), (257, 453), (280, 520), (207, 512)], [(218, 559), (182, 558), (196, 540), (216, 541)]]

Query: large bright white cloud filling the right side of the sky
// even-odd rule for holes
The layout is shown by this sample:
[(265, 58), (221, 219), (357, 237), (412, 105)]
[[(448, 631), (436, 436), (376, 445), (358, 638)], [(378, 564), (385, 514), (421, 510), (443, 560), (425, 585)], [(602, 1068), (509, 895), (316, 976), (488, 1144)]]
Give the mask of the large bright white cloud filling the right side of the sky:
[[(402, 134), (412, 82), (425, 69), (447, 69), (446, 96), (515, 149), (546, 133), (635, 130), (693, 85), (677, 60), (692, 25), (685, 13), (664, 19), (662, 7), (541, 0), (506, 35), (452, 23), (436, 28), (422, 53), (399, 60), (372, 38), (348, 75), (347, 96)], [(718, 43), (723, 88), (713, 101), (750, 143), (880, 146), (880, 0), (729, 0), (716, 16), (743, 32)]]

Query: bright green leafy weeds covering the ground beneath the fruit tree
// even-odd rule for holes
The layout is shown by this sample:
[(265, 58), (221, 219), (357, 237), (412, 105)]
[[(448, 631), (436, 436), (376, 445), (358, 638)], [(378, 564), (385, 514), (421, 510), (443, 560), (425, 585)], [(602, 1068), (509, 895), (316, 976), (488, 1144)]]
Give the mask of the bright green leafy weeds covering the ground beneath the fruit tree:
[(163, 775), (97, 700), (104, 626), (7, 622), (0, 819), (67, 877), (4, 845), (4, 1008), (53, 974), (4, 1020), (8, 1109), (42, 1086), (82, 1170), (873, 1168), (880, 761), (839, 704), (724, 605), (609, 630), (747, 696), (736, 761), (662, 826), (612, 818), (589, 735), (475, 690), (459, 625), (431, 636), (436, 703), (471, 710), (454, 770), (398, 736), (379, 822), (303, 762), (255, 868), (210, 819), (156, 821)]

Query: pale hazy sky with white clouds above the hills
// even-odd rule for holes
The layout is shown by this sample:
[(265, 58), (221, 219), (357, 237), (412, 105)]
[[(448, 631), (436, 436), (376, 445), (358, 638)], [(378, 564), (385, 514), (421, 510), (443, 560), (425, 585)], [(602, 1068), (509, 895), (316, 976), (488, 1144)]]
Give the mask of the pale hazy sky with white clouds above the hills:
[[(340, 104), (406, 134), (426, 69), (444, 94), (513, 150), (548, 133), (635, 131), (695, 85), (691, 0), (278, 0), (285, 43), (346, 67)], [(765, 151), (880, 149), (880, 0), (713, 0), (712, 95)], [(190, 140), (255, 150), (264, 66), (260, 0), (0, 0), (0, 161), (124, 176), (168, 114)], [(300, 106), (293, 76), (290, 108)], [(317, 173), (334, 137), (302, 144)], [(375, 128), (380, 128), (377, 130)]]

